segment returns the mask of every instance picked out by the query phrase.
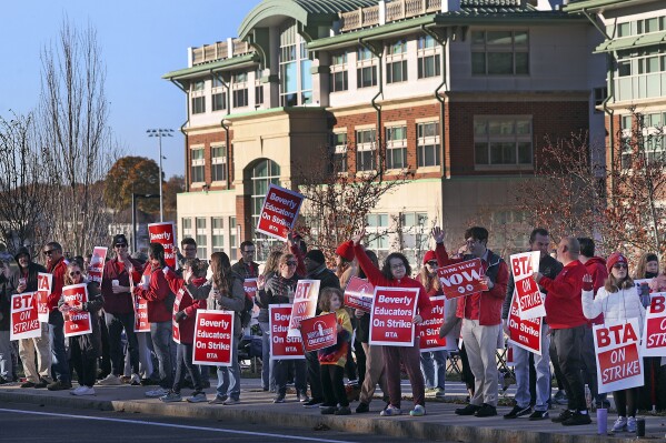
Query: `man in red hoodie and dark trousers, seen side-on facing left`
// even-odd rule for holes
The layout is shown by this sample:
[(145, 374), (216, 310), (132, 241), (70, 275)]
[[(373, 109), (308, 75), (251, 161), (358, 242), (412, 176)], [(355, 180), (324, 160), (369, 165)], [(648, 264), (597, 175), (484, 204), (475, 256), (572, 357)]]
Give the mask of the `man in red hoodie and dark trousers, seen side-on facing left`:
[(548, 291), (546, 296), (546, 321), (550, 326), (550, 362), (564, 375), (563, 383), (568, 399), (568, 409), (551, 419), (565, 426), (592, 422), (585, 402), (583, 384), (581, 349), (587, 328), (583, 314), (583, 278), (585, 265), (578, 260), (580, 243), (575, 236), (565, 236), (557, 246), (557, 260), (564, 268), (555, 279), (536, 272), (537, 283)]

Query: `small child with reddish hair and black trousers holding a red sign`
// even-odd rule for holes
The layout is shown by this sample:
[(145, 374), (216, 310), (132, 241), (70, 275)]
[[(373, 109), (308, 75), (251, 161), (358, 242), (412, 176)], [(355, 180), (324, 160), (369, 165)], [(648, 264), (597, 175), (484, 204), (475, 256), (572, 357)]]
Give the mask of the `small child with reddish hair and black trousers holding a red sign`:
[[(345, 365), (347, 364), (347, 351), (351, 339), (351, 321), (349, 313), (342, 308), (342, 291), (336, 288), (325, 288), (319, 295), (319, 315), (336, 313), (338, 323), (338, 341), (335, 345), (318, 351), (319, 364), (321, 365), (321, 387), (324, 390), (322, 414), (349, 415), (349, 401), (345, 392)], [(337, 405), (340, 404), (338, 409)]]

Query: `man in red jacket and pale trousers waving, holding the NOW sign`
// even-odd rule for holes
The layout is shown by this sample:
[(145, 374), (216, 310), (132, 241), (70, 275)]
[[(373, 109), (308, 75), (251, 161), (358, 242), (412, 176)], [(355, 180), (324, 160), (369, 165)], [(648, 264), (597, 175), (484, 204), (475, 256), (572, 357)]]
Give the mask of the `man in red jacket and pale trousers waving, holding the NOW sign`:
[(474, 396), (469, 404), (455, 412), (458, 415), (477, 417), (497, 415), (497, 363), (495, 353), (501, 333), (501, 305), (509, 281), (509, 270), (505, 261), (490, 251), (488, 230), (473, 226), (465, 231), (466, 253), (460, 259), (449, 259), (444, 248), (444, 231), (433, 230), (437, 246), (435, 254), (440, 266), (480, 259), (484, 274), (479, 281), (486, 283), (487, 291), (464, 296), (458, 301), (456, 315), (463, 319), (463, 341), (467, 359), (475, 379)]

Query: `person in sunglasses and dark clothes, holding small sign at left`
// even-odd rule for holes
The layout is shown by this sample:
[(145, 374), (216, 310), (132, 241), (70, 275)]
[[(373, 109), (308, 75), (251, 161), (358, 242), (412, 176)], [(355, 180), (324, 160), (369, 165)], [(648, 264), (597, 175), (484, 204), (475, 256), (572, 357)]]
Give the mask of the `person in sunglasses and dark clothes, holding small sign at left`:
[(69, 339), (71, 364), (79, 377), (79, 387), (70, 391), (72, 395), (95, 395), (95, 380), (97, 379), (97, 359), (101, 356), (102, 342), (99, 315), (97, 312), (102, 308), (105, 299), (97, 282), (88, 281), (83, 276), (81, 265), (72, 261), (67, 265), (64, 285), (86, 283), (88, 289), (88, 301), (86, 303), (67, 303), (64, 298), (58, 302), (59, 312), (71, 315), (79, 312), (90, 312), (90, 324), (92, 332)]

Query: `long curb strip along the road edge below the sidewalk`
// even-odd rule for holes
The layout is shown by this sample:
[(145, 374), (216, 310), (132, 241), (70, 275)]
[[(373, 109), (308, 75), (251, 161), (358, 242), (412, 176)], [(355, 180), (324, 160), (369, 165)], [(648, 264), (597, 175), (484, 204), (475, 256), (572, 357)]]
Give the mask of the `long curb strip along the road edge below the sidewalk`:
[[(36, 395), (30, 393), (0, 392), (2, 403), (28, 403), (50, 406), (98, 411), (145, 413), (169, 417), (206, 419), (245, 424), (277, 424), (300, 429), (322, 429), (324, 426), (342, 432), (378, 434), (404, 439), (423, 439), (450, 442), (497, 442), (497, 443), (636, 443), (635, 437), (615, 437), (599, 435), (573, 435), (553, 432), (520, 431), (516, 429), (496, 429), (464, 426), (457, 424), (434, 423), (425, 417), (399, 416), (381, 419), (378, 415), (321, 416), (302, 414), (296, 411), (276, 411), (276, 409), (248, 409), (225, 406), (210, 407), (208, 404), (172, 403), (155, 401), (95, 400), (70, 396)], [(259, 403), (266, 405), (266, 403)], [(429, 416), (433, 419), (433, 415)], [(324, 426), (322, 426), (324, 425)], [(324, 429), (326, 429), (324, 427)], [(657, 439), (648, 437), (656, 441)]]

